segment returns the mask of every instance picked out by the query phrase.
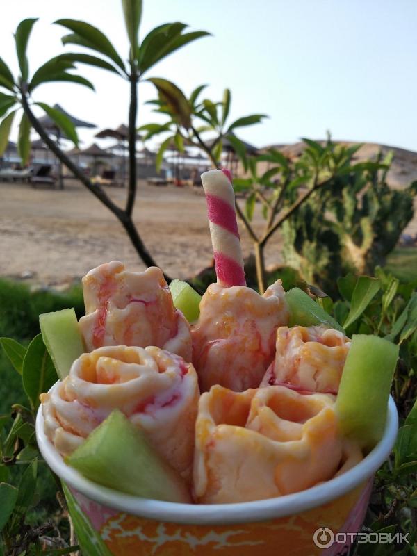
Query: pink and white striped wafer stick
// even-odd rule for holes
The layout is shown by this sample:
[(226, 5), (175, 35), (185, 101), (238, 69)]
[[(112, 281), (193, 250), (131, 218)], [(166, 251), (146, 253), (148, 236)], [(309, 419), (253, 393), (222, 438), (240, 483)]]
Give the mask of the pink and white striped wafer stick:
[(218, 283), (225, 288), (246, 286), (231, 174), (210, 170), (202, 174), (202, 183)]

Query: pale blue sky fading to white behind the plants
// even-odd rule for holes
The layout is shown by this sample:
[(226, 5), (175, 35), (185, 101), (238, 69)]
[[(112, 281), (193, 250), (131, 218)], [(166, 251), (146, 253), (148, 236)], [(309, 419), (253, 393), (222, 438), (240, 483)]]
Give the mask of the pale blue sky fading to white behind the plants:
[[(28, 47), (31, 72), (64, 49), (77, 50), (63, 47), (65, 29), (52, 25), (63, 17), (95, 24), (127, 56), (120, 0), (13, 0), (0, 20), (0, 56), (13, 72), (13, 32), (26, 17), (40, 18)], [(186, 93), (208, 83), (212, 100), (230, 88), (231, 120), (269, 116), (237, 133), (254, 145), (318, 139), (329, 130), (338, 140), (417, 151), (416, 0), (145, 0), (140, 37), (173, 21), (213, 36), (172, 54), (149, 76), (170, 79)], [(97, 124), (96, 131), (126, 122), (129, 84), (87, 66), (78, 73), (96, 92), (51, 83), (40, 86), (34, 100), (58, 102)], [(143, 106), (155, 97), (150, 83), (140, 85), (138, 124), (163, 121)], [(79, 130), (84, 146), (94, 133)]]

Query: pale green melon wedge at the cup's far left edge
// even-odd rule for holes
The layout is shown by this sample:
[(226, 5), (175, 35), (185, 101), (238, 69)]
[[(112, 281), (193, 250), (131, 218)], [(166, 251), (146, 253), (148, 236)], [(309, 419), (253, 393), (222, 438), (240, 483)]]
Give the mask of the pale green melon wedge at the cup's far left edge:
[(44, 345), (54, 361), (58, 377), (63, 380), (70, 373), (72, 363), (85, 351), (75, 311), (63, 309), (43, 313), (39, 316), (39, 324)]

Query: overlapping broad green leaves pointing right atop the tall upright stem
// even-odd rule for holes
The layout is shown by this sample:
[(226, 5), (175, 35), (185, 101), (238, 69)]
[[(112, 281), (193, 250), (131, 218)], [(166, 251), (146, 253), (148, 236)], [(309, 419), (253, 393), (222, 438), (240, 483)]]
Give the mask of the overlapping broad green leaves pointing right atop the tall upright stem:
[(138, 67), (141, 74), (188, 42), (209, 35), (205, 31), (193, 31), (181, 35), (186, 27), (186, 24), (181, 22), (167, 23), (152, 29), (146, 35), (138, 54)]

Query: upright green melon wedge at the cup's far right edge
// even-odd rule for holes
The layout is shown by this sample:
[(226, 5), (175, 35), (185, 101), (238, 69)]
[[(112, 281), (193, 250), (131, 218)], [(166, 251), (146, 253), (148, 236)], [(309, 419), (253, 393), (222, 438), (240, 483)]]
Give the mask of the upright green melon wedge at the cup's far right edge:
[(398, 350), (378, 336), (352, 337), (334, 409), (341, 432), (366, 451), (384, 434)]

